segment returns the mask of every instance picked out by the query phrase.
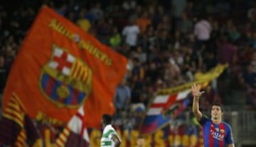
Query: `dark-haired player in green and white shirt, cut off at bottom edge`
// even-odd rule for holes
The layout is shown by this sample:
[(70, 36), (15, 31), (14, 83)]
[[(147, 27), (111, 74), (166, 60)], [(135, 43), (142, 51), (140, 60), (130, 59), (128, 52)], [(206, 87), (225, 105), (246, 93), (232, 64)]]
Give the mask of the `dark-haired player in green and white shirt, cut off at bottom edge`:
[(103, 133), (102, 138), (100, 139), (101, 147), (119, 147), (121, 145), (121, 139), (112, 127), (111, 122), (112, 116), (110, 114), (102, 115), (101, 124)]

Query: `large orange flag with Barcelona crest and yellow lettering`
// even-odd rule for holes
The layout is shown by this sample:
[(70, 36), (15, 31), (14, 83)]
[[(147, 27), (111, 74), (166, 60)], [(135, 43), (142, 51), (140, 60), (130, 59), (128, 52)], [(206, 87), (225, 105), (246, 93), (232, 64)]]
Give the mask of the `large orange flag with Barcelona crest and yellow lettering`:
[(114, 90), (127, 59), (44, 6), (9, 74), (4, 107), (16, 93), (32, 118), (68, 122), (85, 102), (88, 127), (114, 112)]

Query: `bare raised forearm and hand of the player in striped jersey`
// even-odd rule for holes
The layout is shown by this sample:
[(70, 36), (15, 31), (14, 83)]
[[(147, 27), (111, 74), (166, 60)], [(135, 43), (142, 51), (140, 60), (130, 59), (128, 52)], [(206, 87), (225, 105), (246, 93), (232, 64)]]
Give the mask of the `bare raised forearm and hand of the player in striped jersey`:
[(202, 119), (202, 112), (199, 110), (199, 98), (201, 97), (201, 95), (204, 93), (204, 91), (200, 91), (200, 86), (196, 83), (194, 83), (191, 86), (191, 90), (192, 90), (192, 95), (193, 95), (193, 114), (195, 114), (196, 119), (198, 119), (198, 121), (200, 121)]

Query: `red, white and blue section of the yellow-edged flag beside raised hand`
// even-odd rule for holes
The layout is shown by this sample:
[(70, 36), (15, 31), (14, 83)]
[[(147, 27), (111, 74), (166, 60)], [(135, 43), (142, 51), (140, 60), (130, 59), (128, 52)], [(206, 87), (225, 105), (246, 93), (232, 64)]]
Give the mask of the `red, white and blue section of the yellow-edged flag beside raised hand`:
[(141, 134), (151, 134), (171, 119), (181, 114), (189, 102), (191, 90), (183, 90), (173, 95), (157, 95), (146, 112)]

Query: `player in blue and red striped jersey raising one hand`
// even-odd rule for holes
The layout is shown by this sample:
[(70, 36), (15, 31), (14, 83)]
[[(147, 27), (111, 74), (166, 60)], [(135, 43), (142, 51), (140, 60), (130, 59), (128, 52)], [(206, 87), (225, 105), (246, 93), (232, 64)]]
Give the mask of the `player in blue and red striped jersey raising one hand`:
[(207, 147), (228, 146), (235, 147), (232, 129), (229, 124), (222, 121), (223, 108), (220, 104), (213, 104), (210, 110), (210, 119), (203, 116), (199, 110), (199, 98), (204, 93), (198, 84), (191, 86), (193, 95), (193, 114), (203, 127), (203, 142)]

